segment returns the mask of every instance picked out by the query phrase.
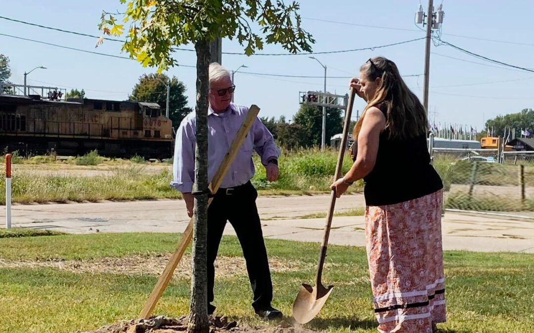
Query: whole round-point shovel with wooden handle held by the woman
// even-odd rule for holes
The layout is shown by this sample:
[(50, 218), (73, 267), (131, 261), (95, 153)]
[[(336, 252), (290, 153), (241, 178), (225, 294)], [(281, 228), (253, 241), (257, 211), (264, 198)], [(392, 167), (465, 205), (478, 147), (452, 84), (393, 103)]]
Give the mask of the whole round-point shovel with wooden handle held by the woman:
[[(337, 165), (335, 168), (335, 180), (341, 176), (341, 167), (343, 165), (343, 156), (345, 153), (345, 146), (347, 145), (347, 134), (350, 126), (350, 115), (352, 113), (352, 104), (354, 104), (354, 96), (356, 91), (354, 88), (350, 89), (349, 102), (347, 105), (347, 112), (345, 113), (345, 122), (343, 125), (343, 137), (341, 139), (341, 146), (339, 155), (337, 156)], [(321, 251), (319, 253), (319, 265), (317, 266), (317, 277), (315, 280), (316, 286), (312, 287), (305, 283), (302, 283), (302, 287), (293, 303), (293, 317), (296, 322), (305, 324), (315, 318), (315, 316), (321, 311), (321, 308), (326, 303), (326, 300), (332, 294), (332, 288), (334, 286), (323, 286), (321, 282), (321, 276), (323, 275), (323, 265), (325, 263), (326, 248), (328, 245), (328, 237), (330, 235), (330, 227), (332, 225), (332, 216), (334, 215), (336, 193), (332, 190), (330, 195), (330, 209), (326, 216), (325, 234), (323, 237), (323, 243), (321, 243)]]

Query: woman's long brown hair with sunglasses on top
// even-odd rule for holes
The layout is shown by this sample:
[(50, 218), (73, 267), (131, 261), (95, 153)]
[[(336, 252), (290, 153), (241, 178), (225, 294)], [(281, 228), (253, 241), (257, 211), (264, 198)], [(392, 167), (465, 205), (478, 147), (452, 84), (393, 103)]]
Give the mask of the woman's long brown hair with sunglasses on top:
[(360, 72), (368, 81), (381, 78), (381, 82), (374, 96), (367, 101), (362, 117), (354, 126), (352, 133), (354, 140), (358, 139), (365, 111), (379, 104), (387, 108), (386, 128), (389, 130), (389, 137), (409, 139), (428, 132), (427, 112), (417, 96), (410, 91), (400, 77), (394, 62), (377, 56), (364, 63)]

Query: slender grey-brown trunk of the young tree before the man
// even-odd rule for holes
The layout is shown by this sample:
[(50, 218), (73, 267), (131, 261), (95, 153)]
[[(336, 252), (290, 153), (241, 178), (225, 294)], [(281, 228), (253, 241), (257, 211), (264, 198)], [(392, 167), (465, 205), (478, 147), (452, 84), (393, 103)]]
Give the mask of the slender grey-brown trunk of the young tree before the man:
[(207, 235), (208, 235), (208, 89), (209, 44), (200, 40), (197, 50), (197, 148), (195, 150), (195, 196), (193, 226), (193, 274), (188, 332), (208, 333), (207, 302)]

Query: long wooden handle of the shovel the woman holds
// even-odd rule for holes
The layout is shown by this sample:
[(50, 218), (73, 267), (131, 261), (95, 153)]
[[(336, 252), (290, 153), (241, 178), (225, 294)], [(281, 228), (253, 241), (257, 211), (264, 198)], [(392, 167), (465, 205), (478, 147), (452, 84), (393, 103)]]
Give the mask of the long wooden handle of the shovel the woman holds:
[[(343, 137), (341, 139), (339, 155), (337, 155), (337, 164), (335, 167), (334, 181), (339, 179), (339, 177), (341, 176), (341, 169), (343, 167), (343, 157), (345, 155), (345, 146), (347, 145), (347, 137), (349, 134), (350, 116), (352, 114), (352, 106), (354, 105), (355, 95), (356, 95), (356, 90), (354, 88), (350, 88), (347, 112), (345, 113), (345, 121), (343, 124)], [(335, 200), (336, 200), (336, 193), (335, 193), (335, 190), (332, 190), (332, 193), (330, 194), (330, 208), (328, 209), (328, 214), (326, 215), (325, 234), (323, 236), (323, 243), (321, 243), (321, 251), (319, 253), (319, 265), (317, 266), (317, 278), (316, 278), (317, 286), (321, 283), (321, 277), (323, 275), (323, 265), (325, 263), (325, 258), (326, 258), (326, 249), (328, 246), (328, 237), (330, 236), (330, 227), (332, 226), (332, 217), (334, 216)]]

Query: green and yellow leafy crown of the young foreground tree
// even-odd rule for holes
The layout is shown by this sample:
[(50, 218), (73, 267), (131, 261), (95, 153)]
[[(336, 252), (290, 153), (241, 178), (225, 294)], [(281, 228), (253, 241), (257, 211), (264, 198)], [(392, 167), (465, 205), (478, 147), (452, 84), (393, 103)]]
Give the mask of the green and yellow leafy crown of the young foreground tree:
[[(271, 0), (120, 0), (127, 4), (123, 24), (103, 13), (99, 29), (111, 35), (128, 31), (122, 50), (143, 66), (158, 70), (176, 63), (174, 47), (216, 37), (236, 38), (245, 54), (279, 44), (289, 52), (311, 51), (315, 42), (301, 27), (300, 6)], [(106, 30), (107, 29), (107, 30)]]

